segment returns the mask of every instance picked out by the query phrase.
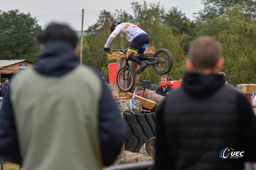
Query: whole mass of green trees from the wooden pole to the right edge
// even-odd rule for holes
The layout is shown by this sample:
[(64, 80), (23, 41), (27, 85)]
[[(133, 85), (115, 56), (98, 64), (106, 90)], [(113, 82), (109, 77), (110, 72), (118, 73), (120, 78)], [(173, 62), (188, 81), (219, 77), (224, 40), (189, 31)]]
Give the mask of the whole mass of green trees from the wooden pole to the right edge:
[[(108, 78), (107, 59), (102, 50), (107, 41), (112, 20), (131, 22), (149, 34), (155, 50), (168, 49), (173, 56), (173, 67), (167, 76), (179, 80), (186, 70), (188, 46), (201, 35), (216, 38), (222, 48), (225, 66), (222, 71), (233, 85), (254, 83), (256, 78), (256, 21), (255, 0), (202, 0), (204, 9), (197, 12), (196, 20), (186, 18), (177, 7), (165, 9), (160, 3), (132, 2), (133, 16), (125, 11), (102, 11), (96, 24), (84, 35), (84, 63), (97, 67)], [(117, 36), (112, 49), (125, 49), (130, 42)], [(160, 75), (148, 67), (142, 74), (144, 80), (158, 84)]]

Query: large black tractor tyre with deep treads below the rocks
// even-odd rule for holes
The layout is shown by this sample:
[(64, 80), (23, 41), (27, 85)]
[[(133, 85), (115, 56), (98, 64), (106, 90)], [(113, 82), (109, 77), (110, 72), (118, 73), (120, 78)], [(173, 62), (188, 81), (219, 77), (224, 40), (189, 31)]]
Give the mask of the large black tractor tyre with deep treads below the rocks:
[(124, 115), (127, 129), (124, 147), (126, 151), (140, 152), (140, 148), (148, 139), (156, 136), (156, 112)]

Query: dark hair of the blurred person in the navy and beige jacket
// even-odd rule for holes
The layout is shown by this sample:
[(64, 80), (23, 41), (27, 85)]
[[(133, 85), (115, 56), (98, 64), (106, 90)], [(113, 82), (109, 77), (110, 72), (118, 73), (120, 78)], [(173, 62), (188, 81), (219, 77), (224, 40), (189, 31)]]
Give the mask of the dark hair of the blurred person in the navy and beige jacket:
[(48, 41), (65, 41), (75, 48), (78, 37), (67, 24), (51, 23), (38, 34), (38, 41), (41, 44), (46, 44)]

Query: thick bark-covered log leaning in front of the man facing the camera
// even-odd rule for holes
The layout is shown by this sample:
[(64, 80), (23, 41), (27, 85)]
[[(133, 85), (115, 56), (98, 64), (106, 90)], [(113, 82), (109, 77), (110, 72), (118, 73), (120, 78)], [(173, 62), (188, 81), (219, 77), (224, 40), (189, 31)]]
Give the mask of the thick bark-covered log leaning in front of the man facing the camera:
[(155, 102), (155, 107), (151, 109), (151, 111), (153, 112), (156, 112), (158, 110), (158, 107), (161, 105), (161, 102), (165, 99), (164, 96), (156, 94), (155, 92), (152, 92), (148, 89), (145, 89), (144, 93), (142, 94), (142, 97)]

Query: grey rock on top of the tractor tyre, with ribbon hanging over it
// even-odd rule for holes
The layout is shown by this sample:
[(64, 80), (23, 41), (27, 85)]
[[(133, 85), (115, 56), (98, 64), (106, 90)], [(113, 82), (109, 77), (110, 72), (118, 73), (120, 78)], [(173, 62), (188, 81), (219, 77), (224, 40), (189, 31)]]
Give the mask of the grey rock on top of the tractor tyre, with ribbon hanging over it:
[(117, 101), (117, 107), (119, 108), (120, 112), (124, 113), (138, 113), (140, 107), (139, 100), (132, 100), (132, 111), (130, 107), (130, 100), (119, 99)]

